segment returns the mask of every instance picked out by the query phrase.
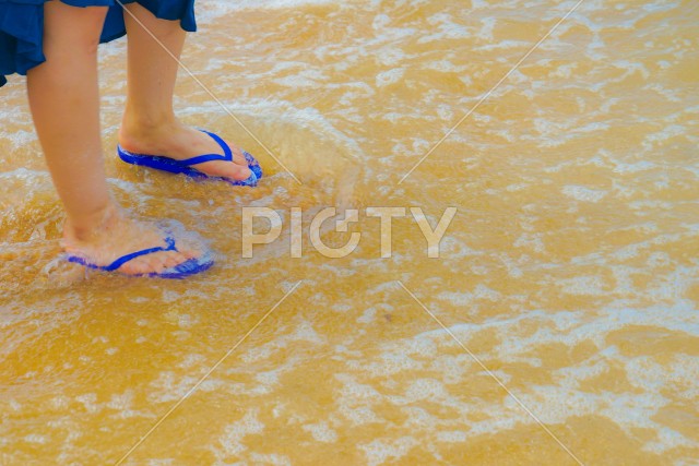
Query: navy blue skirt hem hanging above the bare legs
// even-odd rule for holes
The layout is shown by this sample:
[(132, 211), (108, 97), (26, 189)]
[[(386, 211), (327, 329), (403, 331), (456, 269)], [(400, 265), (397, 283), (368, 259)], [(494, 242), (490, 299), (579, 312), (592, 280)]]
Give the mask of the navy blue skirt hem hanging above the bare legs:
[[(44, 3), (49, 0), (0, 0), (0, 86), (7, 75), (26, 74), (46, 61), (44, 56)], [(123, 9), (116, 0), (61, 0), (72, 7), (108, 7), (99, 38), (108, 43), (123, 36)], [(121, 0), (138, 2), (156, 17), (177, 21), (187, 32), (197, 31), (194, 0)]]

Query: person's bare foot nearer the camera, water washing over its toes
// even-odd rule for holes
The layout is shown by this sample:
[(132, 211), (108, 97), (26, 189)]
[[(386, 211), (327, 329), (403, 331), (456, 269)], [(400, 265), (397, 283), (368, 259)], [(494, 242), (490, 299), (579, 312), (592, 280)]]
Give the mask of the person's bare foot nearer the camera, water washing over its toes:
[[(90, 231), (79, 231), (69, 222), (63, 228), (63, 249), (91, 264), (106, 266), (126, 254), (144, 249), (166, 247), (165, 234), (155, 225), (127, 217), (116, 206), (102, 215)], [(126, 275), (159, 274), (202, 254), (201, 248), (177, 238), (177, 251), (158, 251), (135, 258), (117, 271)]]

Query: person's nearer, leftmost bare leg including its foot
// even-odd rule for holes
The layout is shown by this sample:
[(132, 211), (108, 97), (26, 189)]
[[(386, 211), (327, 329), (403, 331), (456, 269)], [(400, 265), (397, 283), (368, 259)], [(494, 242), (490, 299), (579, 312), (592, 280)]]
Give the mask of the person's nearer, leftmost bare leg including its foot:
[[(107, 9), (45, 5), (46, 62), (27, 73), (34, 124), (67, 222), (63, 243), (99, 265), (163, 243), (156, 228), (128, 219), (107, 187), (99, 130), (97, 45)], [(196, 254), (159, 252), (125, 264), (121, 272), (161, 272)]]

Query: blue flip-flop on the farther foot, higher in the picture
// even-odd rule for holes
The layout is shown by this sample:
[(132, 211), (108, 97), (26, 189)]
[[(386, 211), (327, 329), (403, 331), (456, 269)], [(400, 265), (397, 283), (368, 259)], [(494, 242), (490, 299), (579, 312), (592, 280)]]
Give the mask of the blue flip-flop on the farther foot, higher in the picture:
[(131, 165), (140, 165), (143, 167), (155, 168), (156, 170), (168, 171), (170, 174), (183, 174), (191, 178), (203, 178), (203, 179), (214, 179), (214, 180), (224, 180), (233, 186), (247, 186), (254, 187), (258, 183), (258, 180), (262, 178), (262, 168), (256, 158), (249, 153), (242, 151), (242, 155), (245, 156), (246, 162), (248, 163), (248, 168), (250, 168), (250, 176), (245, 180), (230, 180), (227, 178), (221, 177), (212, 177), (204, 172), (199, 171), (197, 168), (192, 167), (193, 165), (203, 164), (204, 162), (211, 160), (233, 160), (233, 151), (226, 142), (221, 139), (217, 134), (211, 133), (209, 131), (200, 130), (206, 134), (209, 134), (223, 150), (224, 155), (221, 154), (204, 154), (198, 155), (196, 157), (187, 158), (185, 160), (176, 160), (174, 158), (165, 157), (162, 155), (149, 155), (149, 154), (135, 154), (129, 152), (121, 147), (117, 146), (117, 154), (119, 158), (121, 158), (127, 164)]

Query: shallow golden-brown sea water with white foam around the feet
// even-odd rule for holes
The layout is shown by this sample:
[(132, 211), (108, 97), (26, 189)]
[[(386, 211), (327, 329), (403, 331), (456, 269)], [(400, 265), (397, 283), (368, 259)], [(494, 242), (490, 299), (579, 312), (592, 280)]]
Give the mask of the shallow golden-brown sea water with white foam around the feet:
[[(13, 77), (0, 464), (699, 464), (695, 2), (583, 1), (399, 184), (573, 4), (202, 0), (182, 61), (294, 176), (185, 72), (177, 107), (260, 158), (257, 189), (120, 165), (125, 41), (104, 46), (116, 195), (217, 254), (186, 282), (56, 263)], [(246, 205), (284, 220), (252, 259)], [(353, 254), (291, 258), (289, 208), (307, 234), (331, 205), (458, 214), (439, 259), (410, 214), (391, 259), (364, 214)]]

